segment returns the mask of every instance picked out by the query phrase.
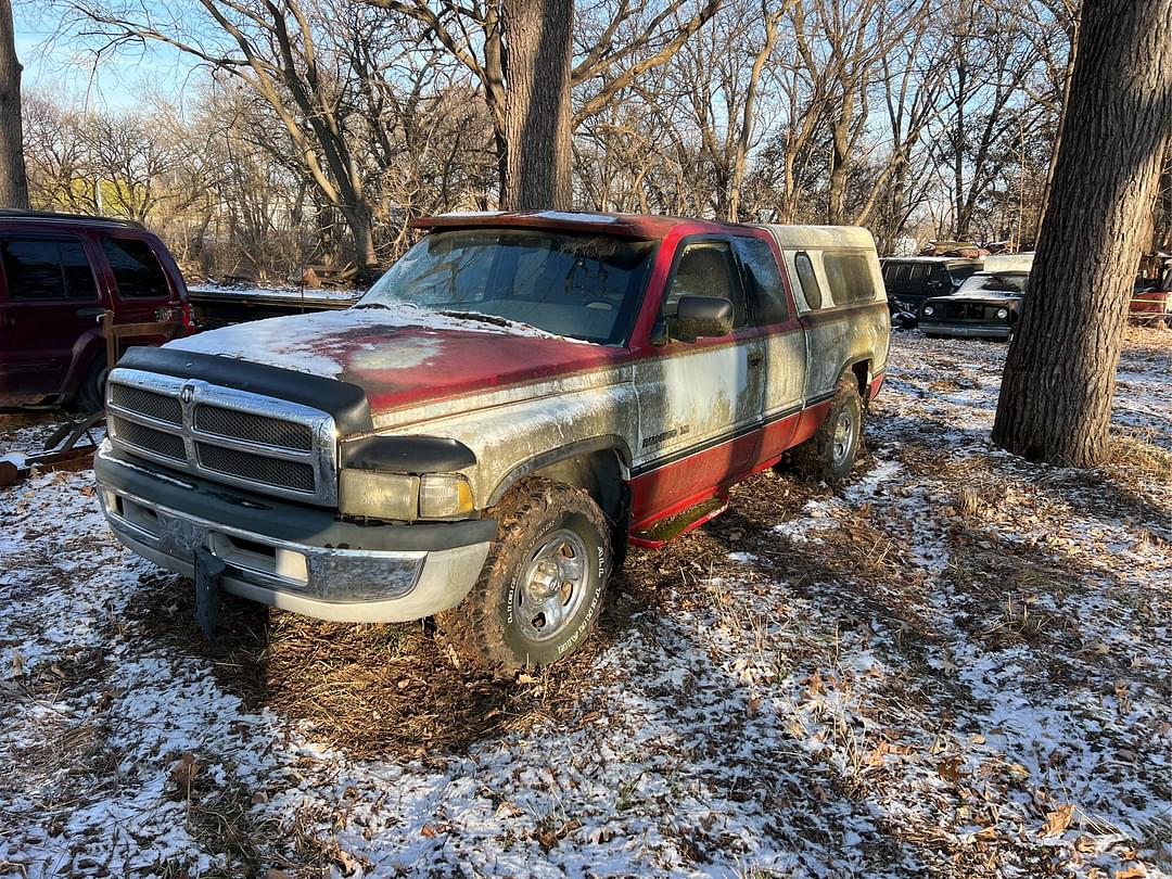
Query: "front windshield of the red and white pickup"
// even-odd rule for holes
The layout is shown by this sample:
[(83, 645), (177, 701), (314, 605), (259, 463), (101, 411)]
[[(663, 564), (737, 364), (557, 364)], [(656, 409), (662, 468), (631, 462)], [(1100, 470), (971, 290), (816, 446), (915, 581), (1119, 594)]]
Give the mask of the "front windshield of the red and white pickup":
[(653, 241), (532, 229), (435, 232), (359, 301), (490, 315), (604, 345), (627, 340)]

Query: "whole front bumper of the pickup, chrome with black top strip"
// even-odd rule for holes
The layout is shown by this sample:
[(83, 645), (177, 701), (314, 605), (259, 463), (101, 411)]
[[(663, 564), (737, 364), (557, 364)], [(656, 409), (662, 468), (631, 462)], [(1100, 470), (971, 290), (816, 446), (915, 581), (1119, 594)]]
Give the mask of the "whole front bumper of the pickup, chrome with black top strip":
[(185, 577), (206, 547), (222, 587), (261, 604), (341, 622), (401, 622), (455, 607), (479, 577), (496, 523), (357, 525), (171, 473), (103, 443), (94, 459), (115, 537)]

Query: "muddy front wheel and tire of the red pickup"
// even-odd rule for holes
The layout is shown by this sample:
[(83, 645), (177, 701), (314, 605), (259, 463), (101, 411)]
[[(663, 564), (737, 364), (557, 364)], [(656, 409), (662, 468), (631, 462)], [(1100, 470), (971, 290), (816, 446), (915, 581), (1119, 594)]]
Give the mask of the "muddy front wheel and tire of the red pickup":
[(581, 489), (537, 478), (489, 515), (499, 530), (479, 579), (458, 606), (436, 614), (441, 648), (462, 666), (498, 676), (568, 656), (602, 609), (611, 524)]

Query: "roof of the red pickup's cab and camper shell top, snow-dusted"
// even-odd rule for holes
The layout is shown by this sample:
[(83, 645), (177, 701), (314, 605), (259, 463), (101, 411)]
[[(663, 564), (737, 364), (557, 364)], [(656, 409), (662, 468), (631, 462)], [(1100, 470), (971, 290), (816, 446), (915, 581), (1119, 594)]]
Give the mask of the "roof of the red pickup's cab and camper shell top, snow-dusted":
[(687, 217), (662, 217), (647, 213), (599, 213), (590, 211), (458, 211), (422, 217), (411, 224), (416, 229), (466, 229), (470, 226), (520, 226), (565, 229), (632, 238), (662, 238), (676, 226), (691, 233), (744, 232), (749, 229), (769, 231), (782, 247), (874, 247), (871, 233), (860, 226), (782, 226), (766, 224), (721, 223)]

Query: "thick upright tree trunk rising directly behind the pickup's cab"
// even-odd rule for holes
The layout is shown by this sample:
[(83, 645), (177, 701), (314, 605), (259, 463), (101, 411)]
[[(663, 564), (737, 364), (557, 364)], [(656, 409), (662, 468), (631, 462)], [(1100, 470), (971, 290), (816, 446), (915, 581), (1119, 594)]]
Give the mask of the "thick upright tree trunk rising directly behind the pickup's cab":
[(506, 210), (573, 204), (570, 57), (573, 0), (505, 0)]

